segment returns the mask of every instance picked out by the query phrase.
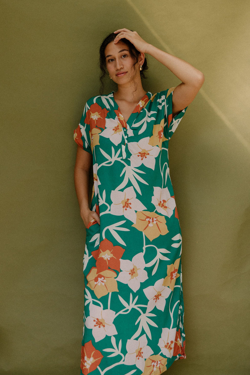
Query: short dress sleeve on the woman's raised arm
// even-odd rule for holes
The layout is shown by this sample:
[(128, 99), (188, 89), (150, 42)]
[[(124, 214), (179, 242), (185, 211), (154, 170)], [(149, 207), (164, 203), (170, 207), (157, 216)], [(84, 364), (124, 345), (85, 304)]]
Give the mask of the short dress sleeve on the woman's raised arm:
[(175, 117), (173, 117), (172, 114), (172, 98), (173, 98), (173, 92), (175, 87), (172, 87), (169, 90), (166, 90), (166, 122), (167, 125), (165, 126), (165, 136), (168, 136), (168, 139), (171, 138), (171, 136), (174, 134), (177, 126), (179, 125), (181, 119), (184, 116), (184, 113), (186, 112), (187, 107), (182, 110), (181, 112), (177, 113)]

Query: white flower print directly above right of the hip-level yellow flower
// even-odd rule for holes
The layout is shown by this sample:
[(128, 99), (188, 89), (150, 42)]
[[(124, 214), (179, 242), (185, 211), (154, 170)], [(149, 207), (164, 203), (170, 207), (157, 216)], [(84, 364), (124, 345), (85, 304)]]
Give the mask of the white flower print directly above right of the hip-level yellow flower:
[(167, 187), (161, 189), (158, 186), (154, 186), (152, 203), (155, 205), (156, 211), (159, 213), (168, 217), (172, 216), (175, 208), (175, 199), (171, 197)]

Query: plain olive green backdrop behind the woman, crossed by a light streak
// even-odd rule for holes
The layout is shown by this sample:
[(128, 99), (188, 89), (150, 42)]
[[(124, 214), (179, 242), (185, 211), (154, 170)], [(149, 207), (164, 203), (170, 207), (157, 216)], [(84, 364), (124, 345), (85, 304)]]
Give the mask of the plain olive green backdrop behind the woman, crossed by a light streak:
[[(85, 229), (73, 130), (99, 89), (100, 42), (120, 27), (205, 74), (169, 150), (187, 359), (168, 374), (249, 374), (249, 1), (2, 0), (0, 14), (0, 374), (79, 374)], [(146, 91), (179, 83), (148, 65)]]

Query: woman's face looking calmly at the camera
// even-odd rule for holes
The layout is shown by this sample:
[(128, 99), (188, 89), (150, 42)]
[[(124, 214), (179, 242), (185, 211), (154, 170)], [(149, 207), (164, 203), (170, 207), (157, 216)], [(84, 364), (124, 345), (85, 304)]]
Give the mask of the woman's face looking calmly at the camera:
[[(125, 84), (130, 82), (139, 74), (139, 63), (133, 67), (134, 60), (130, 56), (129, 47), (119, 41), (118, 43), (111, 42), (105, 48), (106, 67), (112, 80), (117, 84)], [(138, 65), (138, 67), (137, 67)], [(138, 69), (137, 69), (138, 68)], [(138, 72), (137, 72), (138, 71)]]

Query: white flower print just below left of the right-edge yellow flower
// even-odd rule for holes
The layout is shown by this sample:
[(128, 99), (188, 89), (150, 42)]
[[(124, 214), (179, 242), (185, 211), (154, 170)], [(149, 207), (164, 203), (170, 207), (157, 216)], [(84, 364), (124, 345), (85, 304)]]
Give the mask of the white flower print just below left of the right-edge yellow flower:
[(156, 306), (158, 310), (164, 311), (166, 298), (168, 298), (171, 293), (171, 289), (162, 285), (163, 280), (164, 279), (157, 280), (153, 287), (150, 286), (143, 290), (145, 296), (149, 299), (146, 313), (153, 310), (154, 306)]

